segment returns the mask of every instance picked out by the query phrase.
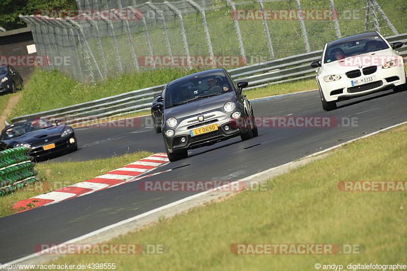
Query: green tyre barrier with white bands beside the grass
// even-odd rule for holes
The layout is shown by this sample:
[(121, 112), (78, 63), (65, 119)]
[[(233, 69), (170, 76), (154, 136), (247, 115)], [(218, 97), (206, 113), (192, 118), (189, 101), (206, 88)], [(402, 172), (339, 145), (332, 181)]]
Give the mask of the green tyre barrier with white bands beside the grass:
[(30, 156), (31, 148), (17, 147), (0, 152), (0, 197), (11, 194), (24, 186), (34, 184), (38, 172)]

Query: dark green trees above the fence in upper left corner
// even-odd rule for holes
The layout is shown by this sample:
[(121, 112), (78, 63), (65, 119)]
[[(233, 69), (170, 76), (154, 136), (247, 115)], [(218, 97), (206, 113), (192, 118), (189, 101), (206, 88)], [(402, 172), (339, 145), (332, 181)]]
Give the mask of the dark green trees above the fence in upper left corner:
[(6, 30), (26, 27), (18, 15), (32, 15), (41, 10), (77, 9), (75, 0), (2, 0), (0, 26)]

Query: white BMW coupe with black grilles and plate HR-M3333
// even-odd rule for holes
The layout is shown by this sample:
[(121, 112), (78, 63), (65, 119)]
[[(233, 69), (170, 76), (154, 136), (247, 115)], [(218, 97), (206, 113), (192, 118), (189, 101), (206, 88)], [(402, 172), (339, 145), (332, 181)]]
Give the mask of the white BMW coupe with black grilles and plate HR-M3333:
[(317, 69), (316, 82), (326, 111), (336, 102), (377, 91), (406, 88), (403, 58), (395, 49), (402, 42), (389, 43), (376, 32), (364, 33), (329, 42)]

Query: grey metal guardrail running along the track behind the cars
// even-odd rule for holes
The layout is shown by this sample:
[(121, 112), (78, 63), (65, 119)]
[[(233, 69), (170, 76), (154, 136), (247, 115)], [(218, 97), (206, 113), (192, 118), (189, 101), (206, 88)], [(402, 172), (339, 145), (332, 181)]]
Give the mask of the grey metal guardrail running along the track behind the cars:
[[(389, 42), (401, 41), (407, 44), (407, 33), (386, 38)], [(252, 89), (271, 84), (307, 79), (315, 76), (315, 69), (310, 63), (321, 59), (322, 50), (288, 56), (273, 61), (258, 63), (237, 69), (229, 70), (234, 80), (248, 81)], [(398, 52), (407, 54), (407, 46), (401, 47)], [(69, 122), (75, 122), (75, 117), (107, 117), (119, 116), (143, 110), (150, 110), (151, 102), (156, 94), (161, 93), (163, 85), (139, 89), (112, 97), (91, 102), (71, 105), (44, 112), (18, 116), (12, 122), (24, 121), (31, 117), (69, 117)], [(69, 124), (69, 123), (68, 123)]]

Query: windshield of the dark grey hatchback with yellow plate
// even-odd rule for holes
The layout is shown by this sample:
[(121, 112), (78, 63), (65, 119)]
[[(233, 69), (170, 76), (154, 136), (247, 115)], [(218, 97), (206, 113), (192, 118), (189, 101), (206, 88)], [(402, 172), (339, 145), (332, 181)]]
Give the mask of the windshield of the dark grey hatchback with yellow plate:
[(220, 95), (231, 90), (224, 74), (214, 73), (187, 77), (168, 84), (165, 90), (165, 108), (181, 105), (205, 97)]

